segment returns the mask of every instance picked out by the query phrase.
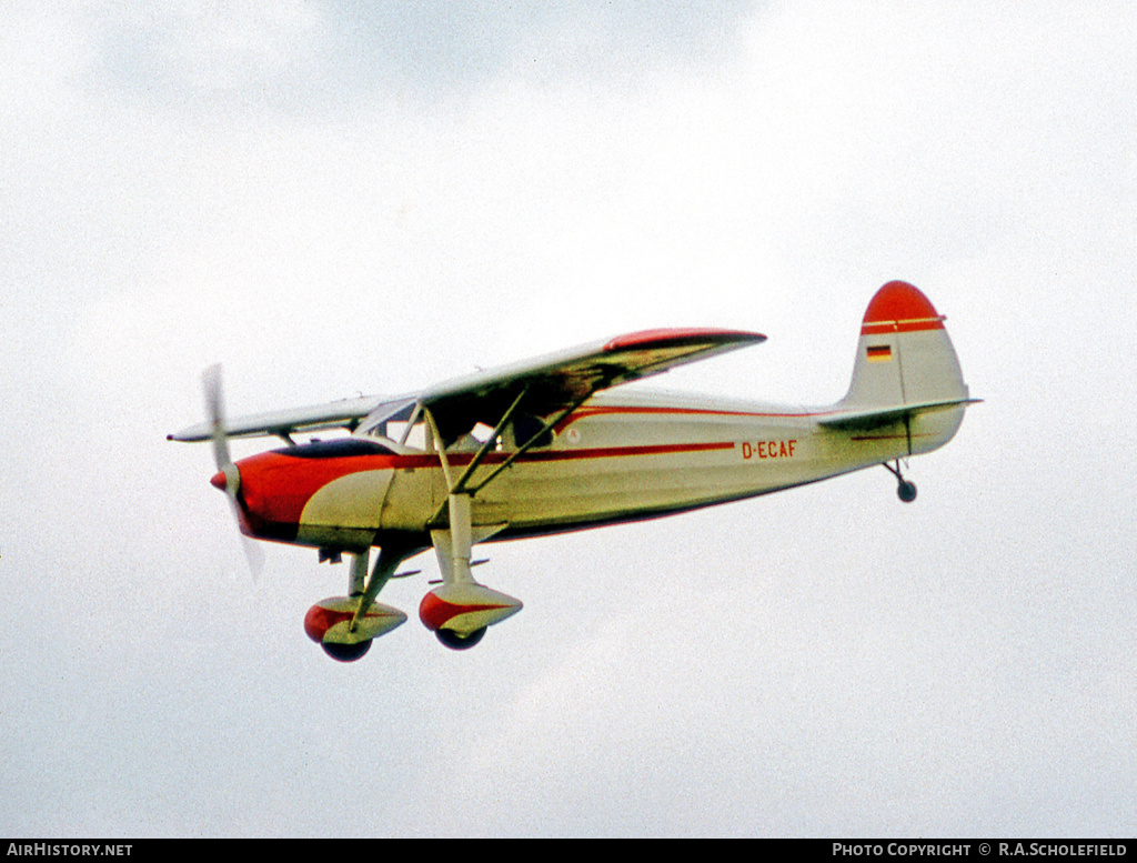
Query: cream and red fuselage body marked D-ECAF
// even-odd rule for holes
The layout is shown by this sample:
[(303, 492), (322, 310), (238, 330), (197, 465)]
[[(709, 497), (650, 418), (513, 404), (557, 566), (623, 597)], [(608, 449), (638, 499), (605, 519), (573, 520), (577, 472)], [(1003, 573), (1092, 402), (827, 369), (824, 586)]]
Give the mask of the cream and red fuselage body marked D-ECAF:
[[(594, 396), (472, 499), (472, 522), (495, 539), (650, 518), (815, 482), (926, 453), (947, 442), (963, 407), (871, 430), (827, 428), (833, 408), (720, 401), (621, 390)], [(517, 435), (521, 437), (520, 434)], [(250, 536), (330, 549), (398, 542), (429, 547), (445, 526), (446, 470), (429, 432), (423, 446), (358, 434), (263, 453), (236, 463)], [(473, 474), (488, 476), (517, 441)], [(463, 471), (480, 443), (451, 442)]]

